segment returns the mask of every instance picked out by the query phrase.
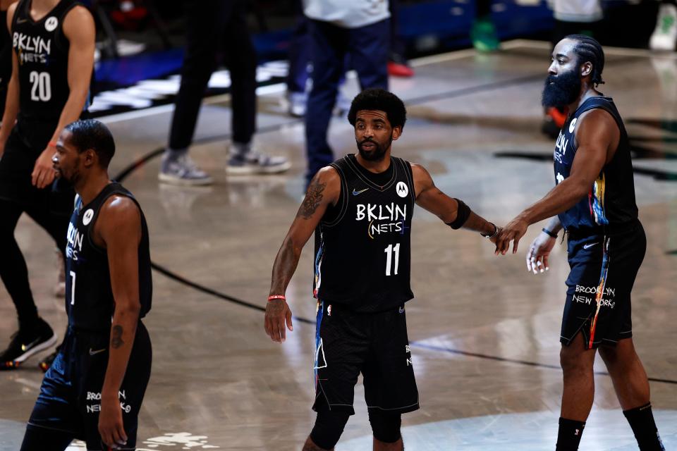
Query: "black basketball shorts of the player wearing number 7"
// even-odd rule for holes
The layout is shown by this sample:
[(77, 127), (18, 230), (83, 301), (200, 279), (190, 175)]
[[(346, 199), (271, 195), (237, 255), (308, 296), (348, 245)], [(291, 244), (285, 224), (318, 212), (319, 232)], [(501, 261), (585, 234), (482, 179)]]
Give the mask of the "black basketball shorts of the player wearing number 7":
[[(28, 420), (30, 428), (47, 428), (70, 433), (84, 440), (88, 451), (108, 450), (99, 435), (101, 389), (108, 365), (109, 333), (81, 333), (69, 330), (61, 350), (47, 370), (35, 407)], [(125, 378), (118, 393), (127, 444), (136, 447), (138, 414), (150, 378), (152, 350), (148, 331), (139, 322)]]

